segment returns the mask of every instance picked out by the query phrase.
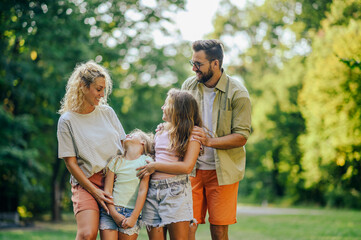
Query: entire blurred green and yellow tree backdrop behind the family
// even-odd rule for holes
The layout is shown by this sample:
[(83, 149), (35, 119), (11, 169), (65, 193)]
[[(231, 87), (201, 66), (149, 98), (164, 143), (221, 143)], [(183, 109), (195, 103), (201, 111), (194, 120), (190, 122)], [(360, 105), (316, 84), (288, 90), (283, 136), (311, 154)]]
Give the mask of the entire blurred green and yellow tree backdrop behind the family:
[[(167, 90), (192, 74), (191, 43), (168, 27), (186, 0), (146, 3), (1, 1), (0, 212), (71, 211), (56, 128), (76, 63), (109, 69), (126, 132), (161, 121)], [(205, 38), (225, 43), (253, 105), (239, 200), (360, 209), (361, 0), (221, 0), (212, 23)]]

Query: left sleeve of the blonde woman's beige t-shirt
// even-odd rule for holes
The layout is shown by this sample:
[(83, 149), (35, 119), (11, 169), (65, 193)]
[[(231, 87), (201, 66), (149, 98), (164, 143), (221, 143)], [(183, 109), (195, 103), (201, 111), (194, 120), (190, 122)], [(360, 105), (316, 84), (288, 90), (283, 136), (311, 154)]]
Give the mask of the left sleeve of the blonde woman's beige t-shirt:
[(76, 157), (76, 147), (73, 135), (71, 134), (69, 123), (60, 118), (58, 123), (58, 157)]

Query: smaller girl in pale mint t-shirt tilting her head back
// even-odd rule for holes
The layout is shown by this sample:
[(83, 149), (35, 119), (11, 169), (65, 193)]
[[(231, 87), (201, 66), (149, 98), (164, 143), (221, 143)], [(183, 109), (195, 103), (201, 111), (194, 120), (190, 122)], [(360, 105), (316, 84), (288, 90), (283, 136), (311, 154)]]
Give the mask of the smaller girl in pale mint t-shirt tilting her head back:
[[(107, 204), (109, 213), (101, 209), (101, 239), (137, 239), (139, 215), (143, 208), (149, 176), (136, 176), (139, 166), (153, 161), (153, 135), (134, 130), (124, 140), (124, 154), (112, 159), (107, 168), (104, 191), (113, 194), (113, 204)], [(110, 215), (109, 215), (110, 214)]]

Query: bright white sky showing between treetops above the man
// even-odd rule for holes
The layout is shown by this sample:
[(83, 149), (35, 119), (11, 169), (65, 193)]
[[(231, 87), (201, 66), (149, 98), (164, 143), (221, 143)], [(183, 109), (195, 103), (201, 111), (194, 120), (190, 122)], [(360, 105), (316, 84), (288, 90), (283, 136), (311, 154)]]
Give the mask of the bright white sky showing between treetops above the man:
[[(160, 29), (153, 29), (152, 36), (155, 45), (161, 47), (171, 45), (179, 40), (194, 42), (205, 39), (205, 35), (214, 31), (213, 21), (217, 10), (221, 7), (220, 1), (221, 0), (187, 0), (184, 10), (164, 12), (164, 16), (173, 19), (175, 24), (167, 21), (161, 22), (162, 27), (170, 33), (169, 35), (164, 35)], [(230, 2), (239, 9), (244, 8), (249, 1), (256, 4), (262, 4), (264, 2), (264, 0), (230, 0)], [(139, 2), (151, 8), (157, 7), (157, 0), (139, 0)], [(137, 17), (139, 17), (139, 13), (134, 11), (128, 11), (128, 15), (133, 21), (137, 21)], [(177, 30), (181, 33), (181, 39), (179, 39), (179, 35), (175, 33)], [(232, 63), (238, 64), (234, 59), (238, 59), (238, 54), (244, 52), (250, 45), (248, 37), (242, 32), (222, 36), (220, 40), (225, 46), (232, 49), (232, 51), (228, 53), (228, 58), (224, 59), (225, 65), (228, 64), (230, 59), (232, 59)], [(114, 44), (116, 44), (115, 39)]]

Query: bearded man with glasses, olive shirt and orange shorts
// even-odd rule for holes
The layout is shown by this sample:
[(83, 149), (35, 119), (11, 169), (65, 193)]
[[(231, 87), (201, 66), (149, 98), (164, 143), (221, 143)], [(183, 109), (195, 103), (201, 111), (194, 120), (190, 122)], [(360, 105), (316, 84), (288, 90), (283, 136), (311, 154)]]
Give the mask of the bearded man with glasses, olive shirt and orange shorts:
[[(246, 163), (245, 144), (251, 132), (251, 101), (241, 81), (222, 68), (223, 44), (199, 40), (192, 45), (190, 64), (196, 76), (182, 89), (196, 97), (205, 128), (192, 134), (204, 146), (204, 154), (191, 174), (193, 212), (197, 224), (208, 221), (212, 239), (228, 239), (228, 225), (237, 222), (237, 195)], [(197, 224), (190, 227), (195, 239)]]

